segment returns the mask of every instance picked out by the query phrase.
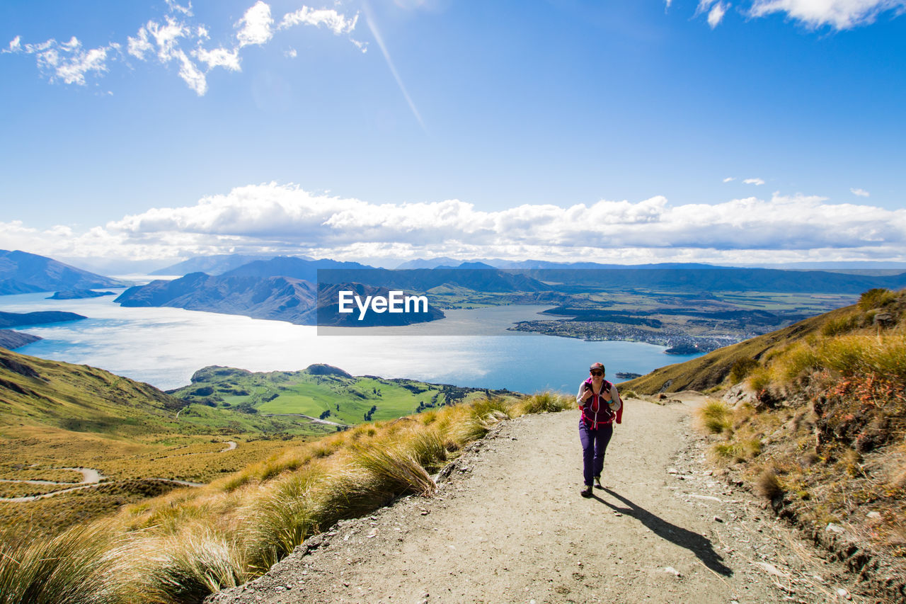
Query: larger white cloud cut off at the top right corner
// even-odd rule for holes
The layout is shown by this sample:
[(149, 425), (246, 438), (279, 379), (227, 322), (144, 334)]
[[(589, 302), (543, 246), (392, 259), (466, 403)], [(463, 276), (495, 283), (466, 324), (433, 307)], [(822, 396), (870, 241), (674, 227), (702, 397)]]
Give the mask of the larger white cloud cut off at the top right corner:
[(808, 27), (828, 25), (837, 30), (871, 24), (878, 15), (906, 10), (906, 0), (754, 0), (753, 16), (784, 13)]

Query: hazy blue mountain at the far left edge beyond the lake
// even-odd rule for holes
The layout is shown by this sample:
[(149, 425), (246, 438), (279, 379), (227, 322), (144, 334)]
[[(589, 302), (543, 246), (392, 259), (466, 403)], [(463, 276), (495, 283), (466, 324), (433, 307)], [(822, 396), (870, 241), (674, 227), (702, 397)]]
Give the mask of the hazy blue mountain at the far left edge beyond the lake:
[(124, 285), (116, 279), (95, 275), (53, 258), (0, 249), (0, 296)]

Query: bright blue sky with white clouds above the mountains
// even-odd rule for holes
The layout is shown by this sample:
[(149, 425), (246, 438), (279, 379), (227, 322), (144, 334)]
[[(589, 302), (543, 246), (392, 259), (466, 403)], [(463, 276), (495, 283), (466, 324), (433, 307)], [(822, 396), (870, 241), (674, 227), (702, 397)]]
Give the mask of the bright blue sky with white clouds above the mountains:
[(906, 261), (906, 0), (8, 0), (0, 247)]

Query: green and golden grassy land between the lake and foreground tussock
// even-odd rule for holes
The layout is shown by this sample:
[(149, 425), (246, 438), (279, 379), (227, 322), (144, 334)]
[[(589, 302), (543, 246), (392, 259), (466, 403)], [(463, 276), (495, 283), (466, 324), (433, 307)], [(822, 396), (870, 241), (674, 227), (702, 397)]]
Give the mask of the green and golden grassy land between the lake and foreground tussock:
[[(396, 419), (486, 391), (353, 377), (335, 367), (254, 374), (206, 367), (174, 391), (91, 367), (0, 348), (0, 534), (24, 518), (53, 533), (169, 492), (206, 483), (347, 424)], [(308, 416), (308, 417), (305, 417)], [(322, 417), (328, 422), (312, 421)], [(230, 444), (234, 443), (234, 444)], [(63, 491), (89, 468), (99, 485)], [(47, 481), (39, 484), (24, 481)], [(17, 530), (17, 529), (15, 529)]]

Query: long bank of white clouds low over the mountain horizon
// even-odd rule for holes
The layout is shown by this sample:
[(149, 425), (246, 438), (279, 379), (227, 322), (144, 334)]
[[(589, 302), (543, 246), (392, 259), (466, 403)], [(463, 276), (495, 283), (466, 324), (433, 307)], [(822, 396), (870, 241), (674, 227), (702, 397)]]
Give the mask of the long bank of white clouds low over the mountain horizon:
[(255, 251), (338, 259), (902, 260), (906, 209), (774, 193), (714, 205), (674, 206), (658, 196), (483, 211), (462, 200), (376, 204), (271, 182), (83, 232), (0, 223), (0, 236), (17, 248), (64, 257)]

